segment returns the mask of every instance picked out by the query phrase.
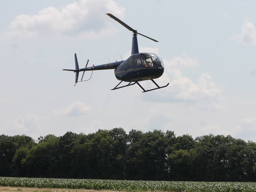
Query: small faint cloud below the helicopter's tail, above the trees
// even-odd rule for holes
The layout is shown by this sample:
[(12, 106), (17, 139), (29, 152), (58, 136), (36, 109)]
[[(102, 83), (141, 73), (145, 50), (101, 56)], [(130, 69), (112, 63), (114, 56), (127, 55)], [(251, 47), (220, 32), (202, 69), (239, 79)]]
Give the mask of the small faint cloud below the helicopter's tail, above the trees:
[(54, 114), (60, 116), (79, 116), (88, 114), (91, 110), (92, 108), (90, 106), (82, 103), (81, 101), (76, 101), (68, 107), (55, 110)]

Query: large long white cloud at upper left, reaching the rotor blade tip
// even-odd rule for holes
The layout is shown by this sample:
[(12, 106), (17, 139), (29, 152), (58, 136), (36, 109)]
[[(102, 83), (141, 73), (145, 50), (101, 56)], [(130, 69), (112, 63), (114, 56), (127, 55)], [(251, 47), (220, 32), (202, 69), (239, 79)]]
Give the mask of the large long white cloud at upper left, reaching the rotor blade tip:
[(113, 0), (77, 0), (58, 9), (46, 7), (36, 15), (20, 14), (11, 21), (4, 34), (8, 37), (30, 37), (36, 35), (68, 35), (96, 37), (113, 32), (112, 24), (105, 13), (122, 19), (124, 7)]

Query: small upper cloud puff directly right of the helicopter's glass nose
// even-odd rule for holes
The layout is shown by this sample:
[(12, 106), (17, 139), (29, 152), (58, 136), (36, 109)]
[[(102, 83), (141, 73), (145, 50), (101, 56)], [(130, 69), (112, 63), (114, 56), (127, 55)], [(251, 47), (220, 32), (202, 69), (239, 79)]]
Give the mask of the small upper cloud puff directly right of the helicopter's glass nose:
[(186, 53), (182, 53), (179, 57), (173, 57), (171, 60), (164, 59), (164, 64), (171, 68), (193, 68), (198, 66), (196, 58), (189, 58)]

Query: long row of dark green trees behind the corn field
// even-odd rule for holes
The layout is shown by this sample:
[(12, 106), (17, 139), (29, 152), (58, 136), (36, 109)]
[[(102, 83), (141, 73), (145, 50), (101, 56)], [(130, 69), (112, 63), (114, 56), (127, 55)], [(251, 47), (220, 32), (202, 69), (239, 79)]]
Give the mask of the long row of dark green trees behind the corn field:
[(228, 136), (123, 128), (90, 134), (0, 135), (0, 176), (256, 181), (256, 143)]

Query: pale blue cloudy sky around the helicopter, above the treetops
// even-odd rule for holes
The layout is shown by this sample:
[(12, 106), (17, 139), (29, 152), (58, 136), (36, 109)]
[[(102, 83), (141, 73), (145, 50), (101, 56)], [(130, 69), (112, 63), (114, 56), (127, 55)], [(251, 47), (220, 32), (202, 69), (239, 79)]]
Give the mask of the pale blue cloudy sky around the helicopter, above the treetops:
[[(36, 140), (122, 127), (256, 142), (255, 10), (255, 1), (231, 0), (1, 1), (0, 134)], [(74, 87), (75, 74), (62, 71), (75, 68), (74, 53), (80, 68), (131, 54), (132, 32), (105, 13), (159, 41), (138, 36), (140, 52), (164, 60), (155, 81), (168, 87), (111, 91), (114, 70)]]

